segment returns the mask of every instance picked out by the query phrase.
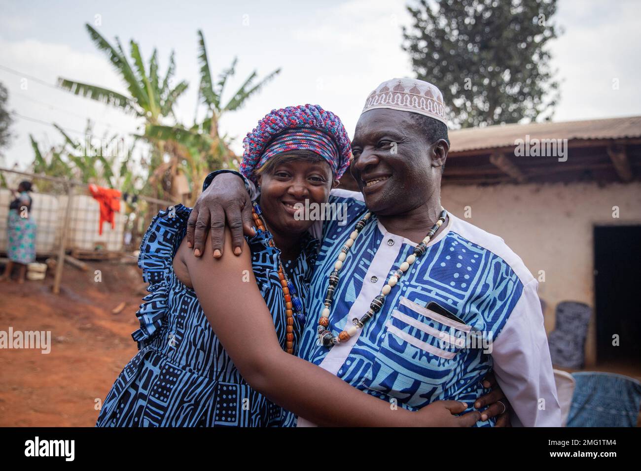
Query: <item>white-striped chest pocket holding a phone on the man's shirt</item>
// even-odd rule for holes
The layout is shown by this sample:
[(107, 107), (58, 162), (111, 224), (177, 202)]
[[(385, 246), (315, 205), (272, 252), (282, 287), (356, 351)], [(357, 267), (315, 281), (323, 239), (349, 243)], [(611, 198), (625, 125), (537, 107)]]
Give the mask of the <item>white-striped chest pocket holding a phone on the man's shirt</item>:
[(362, 385), (422, 407), (456, 388), (470, 326), (401, 297)]

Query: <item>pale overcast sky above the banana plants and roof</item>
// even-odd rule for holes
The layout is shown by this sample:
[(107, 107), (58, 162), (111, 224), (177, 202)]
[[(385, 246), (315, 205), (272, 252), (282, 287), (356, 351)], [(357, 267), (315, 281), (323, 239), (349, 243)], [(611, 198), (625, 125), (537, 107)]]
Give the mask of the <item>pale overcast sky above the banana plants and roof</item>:
[[(562, 80), (554, 120), (640, 115), (640, 3), (558, 3), (554, 21), (565, 32), (551, 44)], [(176, 51), (176, 79), (190, 83), (176, 108), (185, 124), (193, 121), (196, 109), (197, 29), (203, 29), (214, 74), (238, 56), (228, 97), (252, 70), (263, 76), (281, 67), (260, 95), (222, 120), (222, 130), (237, 136), (237, 153), (242, 153), (240, 142), (258, 119), (272, 108), (293, 104), (320, 104), (337, 113), (353, 135), (370, 90), (385, 79), (413, 76), (401, 49), (401, 26), (410, 24), (405, 4), (0, 0), (0, 81), (9, 90), (10, 110), (23, 116), (15, 118), (15, 138), (4, 150), (3, 163), (25, 168), (33, 160), (29, 133), (39, 142), (60, 142), (58, 131), (45, 123), (56, 122), (76, 137), (81, 137), (87, 118), (96, 122), (97, 135), (136, 131), (137, 121), (119, 110), (53, 87), (62, 76), (126, 93), (106, 55), (88, 37), (84, 25), (94, 25), (97, 18), (101, 24), (96, 29), (110, 42), (118, 36), (128, 49), (129, 39), (137, 40), (146, 62), (156, 47), (161, 74), (171, 50)], [(618, 79), (618, 90), (613, 90), (613, 79)]]

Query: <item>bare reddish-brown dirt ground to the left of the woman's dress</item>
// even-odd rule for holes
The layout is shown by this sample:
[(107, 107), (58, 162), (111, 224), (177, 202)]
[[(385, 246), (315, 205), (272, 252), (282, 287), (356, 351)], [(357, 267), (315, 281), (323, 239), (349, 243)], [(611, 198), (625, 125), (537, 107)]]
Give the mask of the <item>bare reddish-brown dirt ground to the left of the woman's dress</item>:
[[(51, 331), (49, 354), (0, 349), (0, 426), (94, 426), (99, 404), (136, 354), (140, 270), (88, 265), (87, 272), (65, 265), (60, 295), (51, 292), (49, 274), (24, 285), (0, 283), (0, 331)], [(94, 270), (102, 272), (100, 283)], [(112, 314), (121, 302), (125, 308)]]

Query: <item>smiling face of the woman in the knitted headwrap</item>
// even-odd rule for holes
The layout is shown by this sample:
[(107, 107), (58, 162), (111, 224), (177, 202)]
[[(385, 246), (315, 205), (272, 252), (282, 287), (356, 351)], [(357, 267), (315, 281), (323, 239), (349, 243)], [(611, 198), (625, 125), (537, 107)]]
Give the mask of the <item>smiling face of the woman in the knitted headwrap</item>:
[[(314, 154), (315, 155), (315, 154)], [(297, 220), (297, 203), (324, 203), (329, 199), (333, 175), (329, 164), (320, 156), (290, 154), (258, 175), (260, 207), (272, 231), (301, 235), (313, 220)], [(278, 156), (274, 157), (278, 159)]]

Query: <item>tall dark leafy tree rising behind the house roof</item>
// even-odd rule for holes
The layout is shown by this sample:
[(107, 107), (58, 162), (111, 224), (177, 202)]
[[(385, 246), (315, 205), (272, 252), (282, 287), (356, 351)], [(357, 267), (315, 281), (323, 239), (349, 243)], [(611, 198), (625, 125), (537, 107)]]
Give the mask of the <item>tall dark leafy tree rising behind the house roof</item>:
[(403, 49), (417, 78), (442, 90), (463, 128), (551, 119), (558, 82), (547, 42), (556, 0), (420, 0)]

